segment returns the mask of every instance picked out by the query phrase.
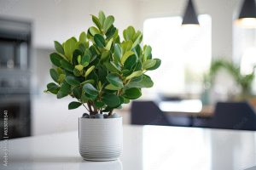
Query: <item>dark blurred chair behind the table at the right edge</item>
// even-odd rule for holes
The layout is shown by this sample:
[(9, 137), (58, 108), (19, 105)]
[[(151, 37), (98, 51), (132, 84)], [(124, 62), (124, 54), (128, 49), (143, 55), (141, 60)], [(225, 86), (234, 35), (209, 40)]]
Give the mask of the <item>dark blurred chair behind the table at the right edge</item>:
[(219, 102), (215, 107), (210, 127), (256, 130), (256, 115), (247, 102)]

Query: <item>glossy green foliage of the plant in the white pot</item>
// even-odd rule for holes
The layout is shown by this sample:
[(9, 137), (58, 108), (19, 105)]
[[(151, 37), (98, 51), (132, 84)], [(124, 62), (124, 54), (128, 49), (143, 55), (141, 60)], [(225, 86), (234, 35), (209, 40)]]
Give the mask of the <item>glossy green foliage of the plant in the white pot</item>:
[(49, 55), (55, 65), (49, 74), (55, 82), (45, 91), (57, 99), (73, 97), (76, 101), (68, 105), (70, 110), (84, 105), (90, 115), (111, 116), (113, 109), (139, 98), (142, 88), (153, 86), (145, 73), (157, 69), (160, 59), (152, 58), (150, 46), (140, 45), (141, 31), (129, 26), (121, 41), (112, 15), (101, 11), (98, 17), (91, 16), (96, 26), (82, 32), (79, 40), (55, 42), (55, 52)]

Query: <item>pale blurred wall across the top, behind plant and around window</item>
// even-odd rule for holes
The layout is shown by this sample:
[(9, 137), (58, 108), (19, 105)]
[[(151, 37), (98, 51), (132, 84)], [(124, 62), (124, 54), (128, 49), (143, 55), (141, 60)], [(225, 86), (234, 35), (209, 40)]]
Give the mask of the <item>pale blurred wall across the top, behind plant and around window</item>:
[[(133, 25), (143, 29), (151, 17), (182, 15), (185, 0), (0, 0), (1, 16), (18, 17), (34, 23), (36, 47), (52, 47), (54, 40), (79, 36), (91, 25), (90, 14), (104, 10), (116, 18), (123, 30)], [(233, 14), (239, 0), (194, 0), (199, 14), (212, 16), (212, 56), (232, 56)]]

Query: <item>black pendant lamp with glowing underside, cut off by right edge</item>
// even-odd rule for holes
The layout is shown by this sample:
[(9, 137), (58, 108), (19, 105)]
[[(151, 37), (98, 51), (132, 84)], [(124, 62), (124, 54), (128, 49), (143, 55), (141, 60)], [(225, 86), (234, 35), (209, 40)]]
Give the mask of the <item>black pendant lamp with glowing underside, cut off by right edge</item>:
[(244, 0), (236, 24), (246, 28), (256, 28), (255, 0)]

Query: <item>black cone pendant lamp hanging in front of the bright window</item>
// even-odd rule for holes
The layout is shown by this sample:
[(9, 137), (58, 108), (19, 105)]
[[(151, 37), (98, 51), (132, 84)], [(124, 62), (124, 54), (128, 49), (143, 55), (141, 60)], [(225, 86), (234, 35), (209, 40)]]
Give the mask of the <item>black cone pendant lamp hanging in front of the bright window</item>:
[(197, 14), (195, 13), (195, 7), (192, 0), (189, 0), (185, 13), (183, 15), (183, 26), (185, 25), (195, 25), (199, 26), (199, 22), (197, 20)]

